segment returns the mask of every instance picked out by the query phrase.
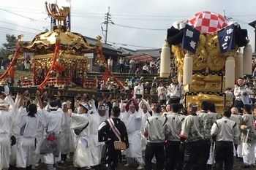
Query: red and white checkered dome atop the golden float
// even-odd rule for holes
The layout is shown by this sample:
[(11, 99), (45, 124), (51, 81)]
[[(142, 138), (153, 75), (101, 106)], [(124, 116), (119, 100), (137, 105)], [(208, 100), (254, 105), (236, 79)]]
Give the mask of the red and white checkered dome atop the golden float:
[(194, 26), (201, 33), (215, 32), (227, 26), (226, 20), (222, 15), (210, 11), (197, 12), (186, 23), (189, 26)]

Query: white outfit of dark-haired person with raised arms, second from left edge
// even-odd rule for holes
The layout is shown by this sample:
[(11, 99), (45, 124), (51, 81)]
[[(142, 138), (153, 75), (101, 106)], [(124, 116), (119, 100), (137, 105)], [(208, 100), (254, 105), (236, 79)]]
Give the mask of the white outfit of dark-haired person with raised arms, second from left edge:
[(18, 114), (20, 115), (18, 125), (20, 128), (25, 125), (25, 129), (18, 141), (16, 166), (26, 168), (26, 166), (35, 165), (37, 163), (36, 137), (39, 117), (37, 115), (35, 115), (35, 117), (29, 117), (26, 109), (23, 107), (19, 108)]

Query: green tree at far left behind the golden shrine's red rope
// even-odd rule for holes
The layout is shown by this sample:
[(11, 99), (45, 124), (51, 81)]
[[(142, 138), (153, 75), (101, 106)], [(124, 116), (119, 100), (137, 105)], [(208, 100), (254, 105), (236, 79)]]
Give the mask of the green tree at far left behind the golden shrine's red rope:
[(6, 40), (7, 42), (4, 43), (0, 49), (0, 58), (2, 58), (4, 61), (8, 61), (8, 56), (13, 54), (16, 49), (16, 43), (18, 42), (18, 39), (14, 35), (6, 34)]

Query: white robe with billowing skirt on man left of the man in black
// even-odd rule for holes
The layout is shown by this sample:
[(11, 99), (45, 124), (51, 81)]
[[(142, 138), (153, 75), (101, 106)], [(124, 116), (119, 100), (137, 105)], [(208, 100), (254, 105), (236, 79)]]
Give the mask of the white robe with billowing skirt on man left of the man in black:
[[(88, 114), (72, 113), (70, 128), (83, 128), (88, 122), (90, 123)], [(91, 150), (89, 149), (89, 139), (90, 125), (83, 129), (79, 135), (75, 135), (75, 152), (73, 160), (75, 167), (92, 166), (93, 162), (91, 158)]]

